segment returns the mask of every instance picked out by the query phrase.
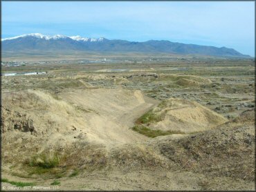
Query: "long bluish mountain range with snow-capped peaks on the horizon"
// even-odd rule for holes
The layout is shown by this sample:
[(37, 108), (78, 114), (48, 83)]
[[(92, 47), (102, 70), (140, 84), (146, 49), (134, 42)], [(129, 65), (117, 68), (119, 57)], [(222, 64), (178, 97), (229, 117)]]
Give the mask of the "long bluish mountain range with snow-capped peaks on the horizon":
[(180, 55), (210, 55), (218, 57), (250, 57), (232, 48), (181, 44), (171, 41), (150, 40), (134, 42), (64, 35), (46, 36), (39, 33), (1, 39), (2, 52), (42, 52), (71, 50), (98, 52), (169, 52)]

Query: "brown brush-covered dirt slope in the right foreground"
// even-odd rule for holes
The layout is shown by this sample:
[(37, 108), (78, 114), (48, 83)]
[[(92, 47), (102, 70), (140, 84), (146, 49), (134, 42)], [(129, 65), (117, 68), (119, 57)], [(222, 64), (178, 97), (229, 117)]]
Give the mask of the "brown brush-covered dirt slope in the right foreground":
[(210, 176), (255, 180), (253, 126), (220, 127), (179, 140), (168, 135), (153, 142), (161, 154), (179, 169)]

